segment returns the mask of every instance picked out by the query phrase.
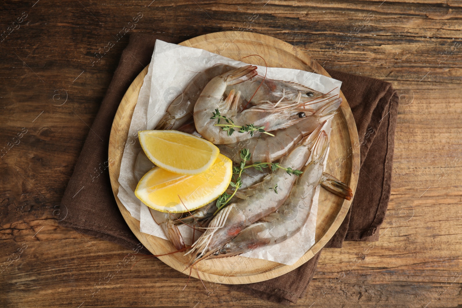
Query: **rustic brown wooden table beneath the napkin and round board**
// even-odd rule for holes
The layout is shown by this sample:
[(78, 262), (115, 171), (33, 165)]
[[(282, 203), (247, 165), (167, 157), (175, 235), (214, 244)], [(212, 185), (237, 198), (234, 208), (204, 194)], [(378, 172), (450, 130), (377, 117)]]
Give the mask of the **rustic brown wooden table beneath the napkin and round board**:
[(141, 14), (130, 32), (186, 40), (250, 26), (325, 67), (391, 82), (401, 101), (380, 241), (358, 263), (369, 243), (324, 249), (293, 306), (461, 307), (460, 1), (35, 1), (0, 11), (1, 307), (279, 307), (195, 279), (182, 290), (188, 278), (155, 258), (128, 263), (92, 297), (128, 250), (55, 222), (130, 33), (94, 53)]

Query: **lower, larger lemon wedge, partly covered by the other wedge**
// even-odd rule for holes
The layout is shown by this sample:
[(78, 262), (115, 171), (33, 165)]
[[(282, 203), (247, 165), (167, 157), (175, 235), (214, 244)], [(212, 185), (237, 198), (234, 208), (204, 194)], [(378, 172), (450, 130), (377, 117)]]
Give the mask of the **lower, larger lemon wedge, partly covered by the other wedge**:
[(210, 169), (198, 175), (179, 175), (154, 167), (141, 178), (135, 195), (154, 210), (184, 213), (217, 199), (228, 187), (231, 175), (231, 159), (222, 154)]

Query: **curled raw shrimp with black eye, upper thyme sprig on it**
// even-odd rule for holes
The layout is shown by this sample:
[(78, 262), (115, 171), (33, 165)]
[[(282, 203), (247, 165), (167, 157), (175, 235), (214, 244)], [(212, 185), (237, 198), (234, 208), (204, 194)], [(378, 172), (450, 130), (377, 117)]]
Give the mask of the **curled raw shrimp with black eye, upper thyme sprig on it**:
[[(266, 131), (273, 131), (280, 128), (290, 127), (302, 120), (298, 116), (300, 112), (311, 116), (316, 111), (307, 108), (308, 102), (301, 101), (301, 93), (291, 101), (273, 103), (262, 103), (253, 105), (242, 112), (238, 111), (240, 91), (235, 97), (234, 89), (228, 97), (223, 100), (223, 94), (227, 85), (236, 85), (254, 77), (256, 66), (243, 66), (236, 70), (226, 72), (214, 77), (202, 90), (194, 107), (194, 123), (198, 133), (214, 144), (231, 144), (250, 139), (251, 132), (228, 134), (222, 127), (217, 126), (217, 120), (211, 118), (212, 112), (219, 110), (221, 116), (230, 119), (233, 124), (221, 124), (221, 126), (244, 126), (253, 124), (255, 127), (264, 127)], [(329, 100), (329, 98), (324, 98)], [(332, 100), (335, 100), (333, 98)], [(330, 103), (330, 102), (328, 102)], [(224, 121), (222, 121), (224, 122)]]

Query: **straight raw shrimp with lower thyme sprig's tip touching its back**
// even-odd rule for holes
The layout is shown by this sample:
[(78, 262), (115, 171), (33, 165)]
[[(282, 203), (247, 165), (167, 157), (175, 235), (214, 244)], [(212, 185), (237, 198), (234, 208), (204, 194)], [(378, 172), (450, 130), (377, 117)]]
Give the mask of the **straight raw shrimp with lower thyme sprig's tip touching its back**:
[[(302, 168), (310, 157), (310, 150), (321, 128), (305, 137), (300, 145), (281, 160), (280, 166)], [(194, 249), (187, 253), (192, 253), (189, 264), (193, 265), (214, 254), (246, 226), (276, 211), (289, 196), (296, 178), (297, 176), (287, 174), (284, 169), (277, 169), (254, 189), (249, 190), (246, 199), (240, 199), (219, 211), (206, 231), (193, 244)], [(271, 193), (270, 189), (277, 189), (279, 193)]]

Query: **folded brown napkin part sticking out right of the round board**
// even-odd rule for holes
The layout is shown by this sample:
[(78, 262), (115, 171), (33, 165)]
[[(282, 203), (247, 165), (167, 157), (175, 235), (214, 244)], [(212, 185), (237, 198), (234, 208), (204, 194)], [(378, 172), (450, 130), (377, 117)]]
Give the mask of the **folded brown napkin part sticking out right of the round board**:
[(390, 198), (399, 99), (388, 82), (330, 69), (327, 72), (342, 81), (341, 90), (353, 112), (361, 153), (353, 203), (325, 246), (341, 248), (344, 240), (378, 241)]

